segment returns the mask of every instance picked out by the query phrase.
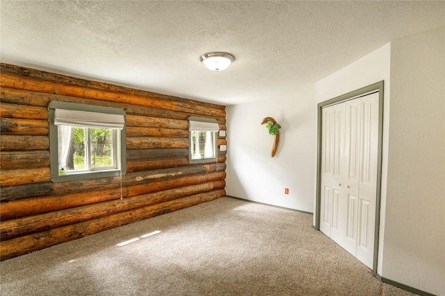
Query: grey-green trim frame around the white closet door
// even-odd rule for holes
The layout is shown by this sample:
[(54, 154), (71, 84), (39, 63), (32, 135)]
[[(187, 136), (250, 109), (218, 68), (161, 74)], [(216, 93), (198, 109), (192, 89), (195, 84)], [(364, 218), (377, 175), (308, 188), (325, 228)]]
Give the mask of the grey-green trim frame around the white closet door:
[(370, 92), (378, 92), (378, 153), (377, 153), (377, 190), (375, 196), (375, 232), (374, 232), (374, 256), (373, 256), (373, 275), (377, 276), (378, 259), (378, 234), (380, 226), (380, 192), (382, 184), (382, 138), (383, 138), (383, 80), (375, 82), (372, 85), (356, 89), (341, 96), (331, 98), (330, 100), (318, 103), (318, 127), (317, 127), (317, 183), (316, 183), (316, 219), (315, 229), (320, 230), (321, 219), (321, 148), (322, 148), (322, 128), (323, 128), (323, 107), (343, 101), (348, 101), (359, 96), (364, 96)]

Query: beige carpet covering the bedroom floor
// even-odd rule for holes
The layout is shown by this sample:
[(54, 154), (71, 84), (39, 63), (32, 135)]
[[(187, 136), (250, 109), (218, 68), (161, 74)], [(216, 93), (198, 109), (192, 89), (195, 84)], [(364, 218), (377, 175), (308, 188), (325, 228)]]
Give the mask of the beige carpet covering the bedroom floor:
[(311, 215), (233, 198), (3, 261), (0, 270), (3, 296), (412, 295), (375, 279), (314, 230)]

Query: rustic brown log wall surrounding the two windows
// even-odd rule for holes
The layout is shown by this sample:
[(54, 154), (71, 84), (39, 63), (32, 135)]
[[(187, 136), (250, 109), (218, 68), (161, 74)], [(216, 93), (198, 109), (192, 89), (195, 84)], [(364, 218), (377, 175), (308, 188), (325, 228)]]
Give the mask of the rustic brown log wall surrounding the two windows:
[[(1, 260), (225, 195), (225, 152), (218, 162), (189, 164), (187, 120), (213, 118), (225, 130), (225, 106), (10, 64), (0, 74)], [(122, 180), (51, 182), (51, 101), (126, 110)]]

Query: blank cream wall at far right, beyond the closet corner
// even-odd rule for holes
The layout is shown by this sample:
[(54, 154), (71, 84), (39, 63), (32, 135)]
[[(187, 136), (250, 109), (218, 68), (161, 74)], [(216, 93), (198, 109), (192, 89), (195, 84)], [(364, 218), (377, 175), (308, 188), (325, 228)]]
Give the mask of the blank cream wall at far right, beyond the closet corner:
[(391, 43), (382, 277), (445, 295), (445, 28)]

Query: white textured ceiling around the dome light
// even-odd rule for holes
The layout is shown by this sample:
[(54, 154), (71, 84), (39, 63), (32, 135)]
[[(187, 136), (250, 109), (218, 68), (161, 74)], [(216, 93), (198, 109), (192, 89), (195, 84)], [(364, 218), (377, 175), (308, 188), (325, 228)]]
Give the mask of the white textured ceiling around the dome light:
[[(0, 5), (1, 62), (223, 105), (294, 98), (388, 42), (445, 26), (445, 1)], [(211, 51), (236, 60), (209, 71), (200, 55)]]

